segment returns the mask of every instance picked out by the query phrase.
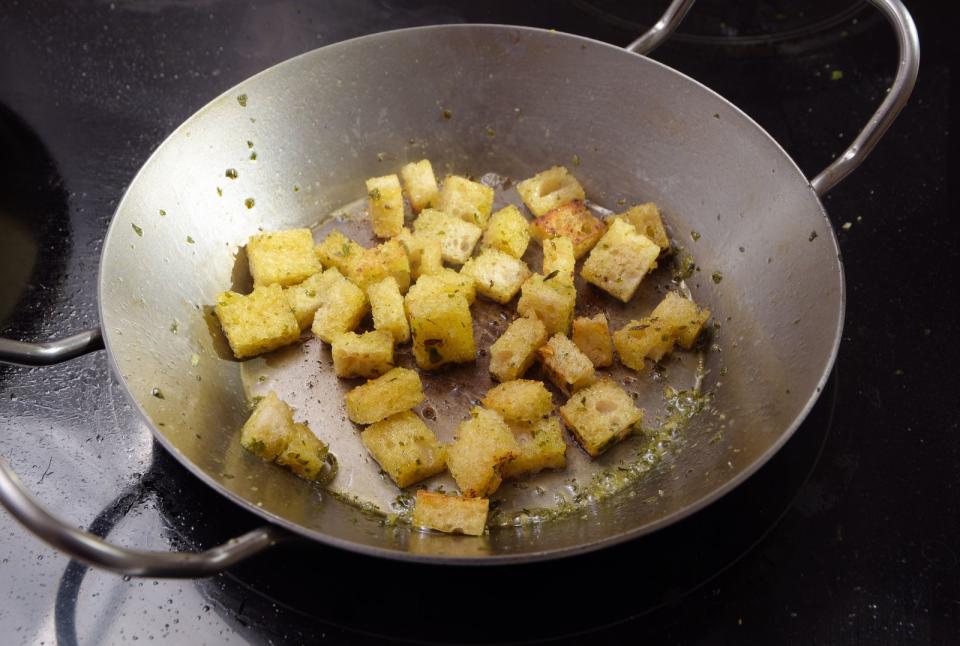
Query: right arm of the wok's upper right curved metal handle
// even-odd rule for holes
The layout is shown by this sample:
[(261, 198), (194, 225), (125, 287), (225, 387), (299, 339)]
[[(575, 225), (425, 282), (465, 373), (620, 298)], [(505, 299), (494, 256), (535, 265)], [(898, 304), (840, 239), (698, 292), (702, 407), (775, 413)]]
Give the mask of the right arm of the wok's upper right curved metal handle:
[(890, 26), (896, 32), (897, 46), (900, 49), (897, 76), (883, 103), (873, 113), (870, 121), (853, 143), (810, 182), (813, 190), (821, 197), (863, 163), (893, 120), (900, 114), (900, 110), (906, 105), (907, 99), (913, 92), (913, 86), (917, 82), (917, 72), (920, 69), (920, 39), (917, 36), (917, 27), (913, 24), (913, 17), (900, 0), (870, 0), (870, 3), (886, 16)]

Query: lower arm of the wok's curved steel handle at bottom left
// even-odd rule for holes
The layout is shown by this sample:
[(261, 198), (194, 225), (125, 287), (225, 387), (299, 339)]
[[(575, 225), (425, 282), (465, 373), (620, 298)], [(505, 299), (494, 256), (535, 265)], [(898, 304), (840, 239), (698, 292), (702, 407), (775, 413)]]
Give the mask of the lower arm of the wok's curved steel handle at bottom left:
[(216, 574), (289, 537), (266, 525), (204, 552), (148, 552), (117, 547), (55, 518), (27, 493), (0, 457), (0, 505), (48, 545), (71, 558), (130, 576), (196, 578)]

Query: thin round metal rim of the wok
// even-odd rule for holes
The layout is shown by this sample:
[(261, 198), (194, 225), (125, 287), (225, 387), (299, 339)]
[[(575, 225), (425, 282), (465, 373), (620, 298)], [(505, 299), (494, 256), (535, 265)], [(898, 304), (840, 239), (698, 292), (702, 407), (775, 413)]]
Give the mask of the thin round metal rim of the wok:
[[(425, 34), (429, 32), (437, 32), (442, 30), (514, 30), (522, 31), (528, 33), (537, 33), (537, 34), (547, 34), (552, 37), (557, 38), (569, 38), (573, 39), (574, 42), (579, 44), (590, 44), (593, 46), (604, 47), (607, 49), (616, 50), (619, 53), (627, 54), (629, 56), (634, 56), (639, 59), (644, 59), (646, 63), (656, 65), (663, 70), (676, 75), (686, 83), (690, 83), (694, 86), (697, 86), (700, 90), (712, 94), (716, 99), (722, 101), (729, 109), (734, 111), (739, 117), (746, 120), (753, 128), (758, 131), (759, 134), (763, 135), (769, 143), (771, 143), (776, 150), (780, 152), (783, 156), (783, 159), (788, 162), (789, 167), (796, 171), (796, 174), (800, 180), (806, 185), (807, 189), (810, 191), (813, 196), (817, 208), (827, 225), (829, 231), (829, 240), (830, 244), (833, 246), (833, 251), (837, 258), (837, 278), (838, 278), (838, 288), (839, 288), (839, 303), (840, 307), (837, 312), (836, 327), (834, 337), (831, 341), (830, 352), (820, 378), (817, 381), (816, 387), (810, 393), (807, 398), (806, 403), (801, 408), (800, 412), (790, 423), (790, 425), (782, 432), (779, 437), (774, 441), (760, 456), (758, 456), (752, 463), (744, 467), (739, 473), (737, 473), (733, 478), (725, 482), (723, 485), (713, 489), (709, 494), (701, 497), (696, 502), (683, 507), (677, 511), (674, 511), (671, 514), (668, 514), (662, 518), (659, 518), (656, 521), (647, 523), (640, 527), (636, 527), (631, 530), (620, 532), (612, 536), (606, 537), (604, 539), (581, 543), (572, 546), (558, 547), (544, 550), (535, 550), (530, 552), (525, 552), (522, 554), (484, 554), (482, 556), (456, 556), (456, 555), (430, 555), (430, 554), (417, 554), (410, 551), (404, 551), (400, 549), (389, 549), (383, 547), (375, 547), (370, 545), (365, 545), (362, 543), (357, 543), (354, 541), (341, 539), (336, 536), (325, 534), (322, 531), (304, 527), (292, 521), (289, 521), (285, 518), (277, 516), (262, 507), (258, 507), (256, 504), (250, 502), (246, 498), (230, 491), (226, 487), (222, 486), (218, 481), (216, 481), (212, 476), (207, 474), (206, 471), (197, 467), (193, 461), (186, 458), (182, 452), (166, 438), (166, 436), (161, 433), (157, 426), (147, 415), (146, 411), (140, 404), (140, 401), (134, 396), (129, 385), (127, 384), (126, 379), (124, 379), (122, 373), (120, 372), (120, 367), (117, 364), (116, 358), (112, 350), (112, 340), (111, 340), (111, 331), (109, 325), (107, 325), (106, 318), (104, 316), (103, 309), (103, 292), (104, 292), (104, 265), (106, 263), (107, 250), (111, 248), (113, 237), (116, 235), (117, 230), (117, 215), (124, 209), (127, 202), (127, 198), (130, 195), (131, 189), (137, 184), (137, 181), (143, 175), (144, 171), (150, 166), (154, 158), (159, 154), (159, 152), (168, 145), (168, 143), (174, 139), (179, 133), (185, 131), (190, 124), (202, 113), (212, 109), (213, 105), (220, 101), (222, 98), (230, 96), (236, 93), (242, 86), (251, 81), (258, 79), (259, 77), (274, 73), (278, 68), (281, 68), (285, 65), (291, 64), (294, 61), (297, 61), (301, 58), (307, 56), (315, 56), (319, 51), (333, 50), (338, 47), (346, 47), (355, 45), (358, 42), (366, 40), (376, 40), (378, 38), (383, 38), (386, 36), (396, 36), (398, 34)], [(284, 59), (278, 63), (271, 65), (270, 67), (254, 74), (253, 76), (247, 77), (240, 81), (239, 83), (227, 88), (225, 91), (221, 92), (217, 96), (213, 97), (210, 101), (205, 103), (202, 107), (196, 110), (191, 114), (187, 119), (185, 119), (181, 124), (174, 128), (164, 140), (150, 153), (150, 156), (143, 162), (140, 168), (137, 170), (137, 173), (133, 176), (133, 179), (127, 185), (127, 188), (124, 190), (123, 196), (120, 201), (117, 203), (117, 207), (113, 212), (113, 215), (110, 219), (110, 225), (107, 228), (107, 232), (103, 238), (103, 246), (100, 250), (100, 260), (97, 265), (97, 310), (100, 317), (100, 326), (103, 334), (103, 344), (106, 351), (107, 360), (110, 366), (111, 372), (117, 377), (122, 386), (124, 396), (130, 401), (134, 410), (137, 412), (137, 415), (144, 422), (147, 428), (150, 429), (154, 439), (156, 439), (163, 448), (173, 455), (177, 461), (183, 465), (190, 473), (196, 476), (201, 482), (205, 485), (214, 489), (220, 495), (226, 497), (235, 504), (241, 506), (245, 510), (256, 514), (257, 516), (263, 518), (266, 522), (282, 527), (297, 536), (307, 538), (318, 543), (321, 543), (326, 546), (335, 547), (344, 549), (350, 552), (357, 554), (362, 554), (364, 556), (372, 556), (376, 558), (385, 558), (391, 560), (398, 560), (404, 562), (413, 562), (413, 563), (422, 563), (422, 564), (432, 564), (432, 565), (466, 565), (466, 566), (484, 566), (484, 565), (509, 565), (509, 564), (518, 564), (518, 563), (534, 563), (541, 561), (549, 561), (554, 559), (569, 558), (573, 556), (588, 554), (597, 550), (601, 550), (607, 547), (612, 547), (625, 543), (627, 541), (638, 539), (647, 534), (651, 534), (655, 531), (669, 527), (670, 525), (676, 524), (681, 520), (692, 516), (698, 511), (705, 509), (706, 507), (712, 505), (714, 502), (724, 497), (746, 480), (748, 480), (754, 473), (756, 473), (761, 467), (763, 467), (770, 459), (776, 455), (780, 449), (793, 437), (800, 425), (806, 420), (807, 416), (810, 414), (811, 409), (816, 404), (817, 400), (820, 398), (820, 395), (823, 393), (824, 387), (827, 383), (827, 380), (830, 378), (830, 375), (833, 372), (833, 368), (836, 364), (837, 356), (839, 354), (840, 342), (843, 336), (843, 326), (845, 321), (845, 314), (847, 308), (847, 289), (846, 289), (846, 278), (843, 267), (843, 257), (840, 252), (839, 241), (837, 239), (836, 230), (833, 227), (833, 224), (830, 221), (829, 216), (827, 215), (826, 209), (824, 209), (823, 202), (820, 199), (820, 196), (817, 195), (816, 191), (813, 189), (813, 186), (810, 183), (810, 179), (803, 173), (800, 167), (797, 165), (796, 161), (790, 156), (789, 153), (783, 148), (782, 145), (768, 133), (760, 124), (758, 124), (750, 115), (741, 110), (734, 103), (726, 99), (724, 96), (716, 92), (715, 90), (707, 87), (700, 81), (680, 72), (669, 65), (661, 63), (655, 59), (649, 58), (641, 54), (634, 54), (627, 51), (622, 47), (606, 43), (600, 40), (595, 40), (593, 38), (588, 38), (586, 36), (579, 36), (576, 34), (570, 34), (567, 32), (554, 31), (549, 29), (542, 29), (539, 27), (528, 27), (522, 25), (509, 25), (509, 24), (495, 24), (495, 23), (452, 23), (452, 24), (436, 24), (436, 25), (424, 25), (418, 27), (407, 27), (401, 29), (393, 29), (389, 31), (375, 32), (372, 34), (365, 34), (362, 36), (357, 36), (355, 38), (350, 38), (347, 40), (338, 41), (335, 43), (330, 43), (324, 45), (323, 47), (318, 47), (312, 49), (296, 56)], [(332, 497), (332, 495), (331, 495)], [(341, 502), (341, 501), (338, 501)], [(348, 503), (342, 503), (348, 504)], [(416, 531), (416, 530), (414, 530)], [(438, 537), (439, 538), (439, 537)]]

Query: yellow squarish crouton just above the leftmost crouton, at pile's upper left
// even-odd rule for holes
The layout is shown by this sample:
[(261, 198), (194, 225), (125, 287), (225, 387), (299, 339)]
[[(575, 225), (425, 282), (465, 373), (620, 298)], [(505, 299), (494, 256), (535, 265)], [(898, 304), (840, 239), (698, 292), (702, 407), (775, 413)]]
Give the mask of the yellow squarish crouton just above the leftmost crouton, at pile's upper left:
[(323, 267), (313, 248), (310, 229), (288, 229), (250, 236), (247, 261), (253, 284), (281, 287), (301, 283)]

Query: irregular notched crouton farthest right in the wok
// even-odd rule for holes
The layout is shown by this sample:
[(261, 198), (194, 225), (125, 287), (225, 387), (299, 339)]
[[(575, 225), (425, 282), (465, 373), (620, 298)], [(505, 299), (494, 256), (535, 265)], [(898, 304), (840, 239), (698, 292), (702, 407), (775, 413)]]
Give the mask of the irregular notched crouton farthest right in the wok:
[(675, 343), (690, 349), (710, 318), (693, 301), (670, 292), (650, 316), (630, 321), (613, 333), (620, 362), (634, 370), (643, 369), (643, 360), (660, 361)]

